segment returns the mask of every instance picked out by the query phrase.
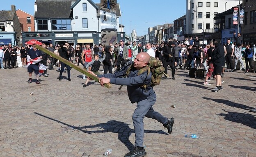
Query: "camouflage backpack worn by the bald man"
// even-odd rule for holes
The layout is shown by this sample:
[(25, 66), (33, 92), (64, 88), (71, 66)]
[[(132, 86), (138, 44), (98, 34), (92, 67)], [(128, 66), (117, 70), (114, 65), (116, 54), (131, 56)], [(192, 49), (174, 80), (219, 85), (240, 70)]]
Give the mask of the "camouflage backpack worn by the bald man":
[[(126, 76), (130, 74), (130, 71), (133, 68), (133, 64), (127, 69)], [(151, 86), (156, 86), (160, 84), (162, 74), (165, 72), (165, 68), (162, 66), (161, 61), (159, 59), (156, 59), (155, 57), (150, 57), (150, 61), (147, 66), (140, 69), (137, 75), (140, 75), (144, 73), (145, 71), (148, 71), (148, 75), (151, 71), (152, 77), (151, 77)], [(142, 85), (146, 89), (146, 84)]]

